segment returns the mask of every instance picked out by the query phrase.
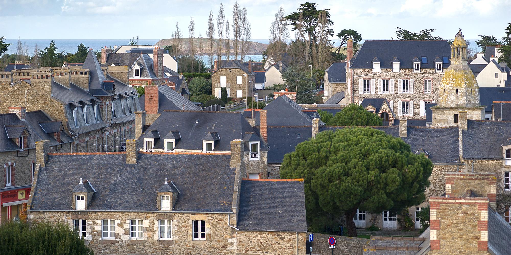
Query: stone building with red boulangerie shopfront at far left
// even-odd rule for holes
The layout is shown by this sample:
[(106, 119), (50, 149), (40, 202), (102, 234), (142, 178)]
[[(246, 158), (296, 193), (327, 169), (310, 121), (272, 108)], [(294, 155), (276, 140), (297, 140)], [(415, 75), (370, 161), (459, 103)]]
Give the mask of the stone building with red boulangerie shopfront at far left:
[(24, 214), (34, 179), (36, 141), (48, 140), (51, 152), (69, 152), (73, 141), (61, 121), (53, 121), (42, 111), (27, 112), (11, 107), (0, 114), (0, 224)]

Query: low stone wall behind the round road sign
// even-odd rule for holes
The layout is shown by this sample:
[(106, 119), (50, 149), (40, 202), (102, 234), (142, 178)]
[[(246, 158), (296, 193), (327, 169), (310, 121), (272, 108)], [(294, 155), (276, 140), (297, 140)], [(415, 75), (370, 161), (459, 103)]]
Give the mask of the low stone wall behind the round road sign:
[[(309, 234), (313, 233), (307, 232), (307, 238), (309, 238)], [(343, 237), (314, 233), (314, 242), (311, 243), (312, 253), (318, 255), (332, 254), (332, 248), (328, 247), (328, 238), (331, 236), (335, 237), (336, 240), (334, 248), (334, 254), (336, 255), (362, 255), (364, 251), (364, 245), (368, 245), (370, 242), (370, 239), (365, 238)]]

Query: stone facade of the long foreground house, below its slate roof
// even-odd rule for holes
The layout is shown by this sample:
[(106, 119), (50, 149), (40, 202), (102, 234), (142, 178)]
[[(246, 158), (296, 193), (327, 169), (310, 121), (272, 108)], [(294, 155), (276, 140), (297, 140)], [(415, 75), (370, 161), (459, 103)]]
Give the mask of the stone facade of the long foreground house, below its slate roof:
[[(71, 226), (74, 219), (87, 221), (85, 239), (95, 254), (296, 254), (296, 233), (236, 233), (228, 226), (226, 214), (29, 211), (28, 215), (31, 224), (61, 222)], [(103, 219), (115, 221), (115, 239), (101, 238)], [(131, 219), (143, 220), (144, 237), (140, 240), (130, 239)], [(172, 220), (172, 240), (158, 240), (159, 219)], [(205, 220), (206, 240), (192, 240), (193, 220)], [(305, 235), (301, 234), (299, 254), (305, 254)]]

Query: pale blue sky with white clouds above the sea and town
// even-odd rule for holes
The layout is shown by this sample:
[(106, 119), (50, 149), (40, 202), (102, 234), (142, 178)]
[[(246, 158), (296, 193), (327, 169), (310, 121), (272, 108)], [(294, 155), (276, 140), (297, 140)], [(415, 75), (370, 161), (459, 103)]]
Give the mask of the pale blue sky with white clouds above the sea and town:
[[(270, 23), (281, 6), (296, 11), (302, 1), (240, 0), (252, 27), (252, 39), (268, 39)], [(413, 32), (436, 29), (433, 35), (454, 38), (458, 28), (465, 38), (478, 34), (504, 35), (511, 22), (511, 0), (324, 0), (312, 1), (330, 9), (335, 34), (354, 29), (363, 39), (390, 39), (396, 27)], [(230, 20), (234, 1), (216, 0), (0, 0), (0, 20), (11, 20), (0, 31), (8, 39), (140, 39), (170, 38), (176, 21), (188, 37), (193, 16), (195, 37), (206, 35), (210, 11), (216, 18), (220, 3)], [(290, 31), (291, 32), (291, 31)], [(291, 32), (291, 39), (294, 32)]]

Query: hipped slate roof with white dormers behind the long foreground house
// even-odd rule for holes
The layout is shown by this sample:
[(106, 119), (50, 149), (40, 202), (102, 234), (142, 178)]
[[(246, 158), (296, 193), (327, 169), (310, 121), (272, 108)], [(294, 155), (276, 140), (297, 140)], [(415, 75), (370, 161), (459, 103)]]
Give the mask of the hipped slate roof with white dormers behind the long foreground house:
[[(174, 148), (193, 150), (202, 150), (204, 136), (210, 132), (218, 132), (221, 139), (215, 142), (215, 151), (230, 151), (230, 141), (244, 139), (246, 132), (254, 132), (239, 113), (206, 111), (164, 111), (147, 130), (158, 130), (161, 137), (167, 136), (169, 132), (179, 131), (181, 139), (176, 140)], [(149, 133), (145, 132), (140, 139), (152, 138), (149, 136)], [(267, 151), (264, 142), (261, 138), (259, 140), (261, 151)], [(154, 148), (163, 149), (163, 139), (156, 139)], [(248, 151), (248, 146), (245, 151)]]

